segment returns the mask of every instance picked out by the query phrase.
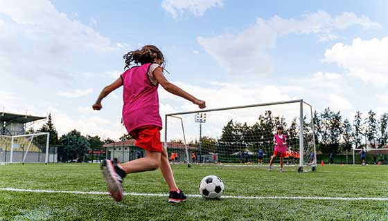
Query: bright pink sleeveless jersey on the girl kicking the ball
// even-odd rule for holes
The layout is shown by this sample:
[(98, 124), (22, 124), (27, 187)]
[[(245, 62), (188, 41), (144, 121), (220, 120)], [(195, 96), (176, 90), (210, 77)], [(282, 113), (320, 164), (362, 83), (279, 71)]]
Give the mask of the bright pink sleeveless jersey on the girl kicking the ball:
[(159, 114), (158, 85), (148, 79), (149, 64), (143, 64), (126, 70), (123, 79), (123, 122), (128, 133), (141, 126), (158, 126), (161, 130)]

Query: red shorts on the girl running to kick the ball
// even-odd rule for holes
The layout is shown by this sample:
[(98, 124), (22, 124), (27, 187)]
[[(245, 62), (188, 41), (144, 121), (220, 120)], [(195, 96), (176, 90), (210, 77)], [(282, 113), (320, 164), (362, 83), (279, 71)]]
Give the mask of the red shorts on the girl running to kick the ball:
[(159, 126), (142, 126), (131, 131), (130, 135), (136, 140), (136, 146), (161, 153)]

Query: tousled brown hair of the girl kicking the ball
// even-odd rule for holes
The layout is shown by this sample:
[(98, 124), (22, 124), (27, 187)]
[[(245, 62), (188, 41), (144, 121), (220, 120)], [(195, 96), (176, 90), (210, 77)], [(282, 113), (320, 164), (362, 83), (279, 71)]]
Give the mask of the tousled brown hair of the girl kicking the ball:
[(161, 59), (162, 65), (165, 64), (163, 53), (159, 50), (159, 48), (157, 48), (157, 46), (152, 45), (146, 45), (141, 49), (127, 52), (123, 58), (125, 59), (124, 69), (131, 68), (132, 65), (139, 63), (141, 65), (152, 63), (155, 59)]

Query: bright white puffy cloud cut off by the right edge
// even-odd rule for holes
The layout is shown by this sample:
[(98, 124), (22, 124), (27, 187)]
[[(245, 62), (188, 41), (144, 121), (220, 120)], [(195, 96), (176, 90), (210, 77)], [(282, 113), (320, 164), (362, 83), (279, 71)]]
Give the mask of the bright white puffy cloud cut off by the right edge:
[(337, 64), (367, 84), (385, 86), (388, 84), (388, 37), (353, 39), (351, 45), (337, 43), (326, 50), (324, 62)]

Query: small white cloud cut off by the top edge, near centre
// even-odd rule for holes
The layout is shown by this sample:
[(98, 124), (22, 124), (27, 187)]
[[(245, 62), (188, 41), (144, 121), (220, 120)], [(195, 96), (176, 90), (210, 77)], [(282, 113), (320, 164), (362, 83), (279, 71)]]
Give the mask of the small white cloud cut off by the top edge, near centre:
[(164, 0), (161, 6), (175, 19), (186, 10), (198, 17), (204, 15), (209, 8), (222, 7), (222, 0)]

